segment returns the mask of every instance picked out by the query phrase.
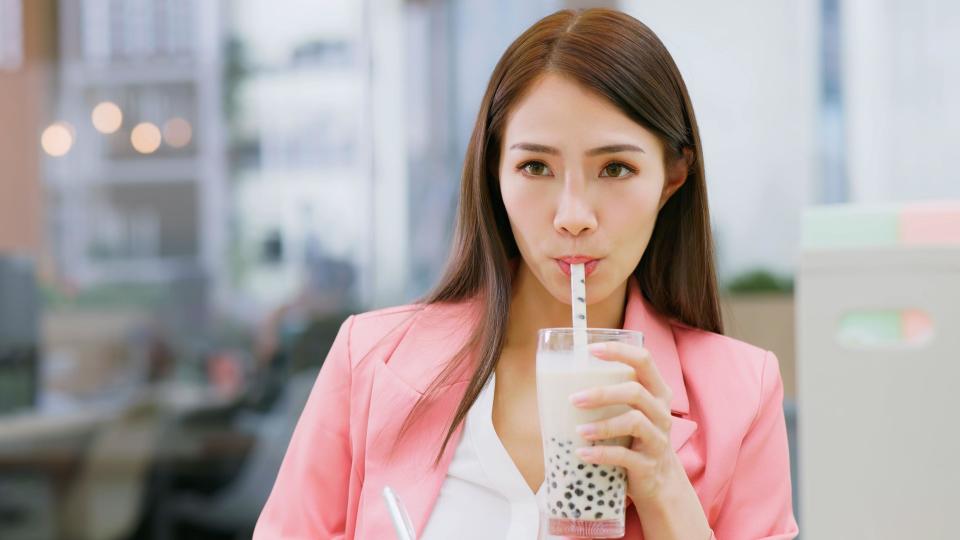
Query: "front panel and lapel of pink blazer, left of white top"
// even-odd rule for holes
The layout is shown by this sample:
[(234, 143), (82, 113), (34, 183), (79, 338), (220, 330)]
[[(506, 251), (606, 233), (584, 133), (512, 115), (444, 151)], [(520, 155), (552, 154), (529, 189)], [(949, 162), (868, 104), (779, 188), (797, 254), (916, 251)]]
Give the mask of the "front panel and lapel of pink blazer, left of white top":
[(457, 405), (466, 393), (473, 357), (465, 358), (403, 438), (399, 437), (400, 427), (407, 411), (467, 342), (474, 316), (475, 305), (470, 303), (427, 306), (386, 363), (374, 366), (358, 538), (393, 536), (382, 496), (384, 486), (397, 493), (417, 535), (422, 534), (460, 442), (462, 422), (434, 466)]

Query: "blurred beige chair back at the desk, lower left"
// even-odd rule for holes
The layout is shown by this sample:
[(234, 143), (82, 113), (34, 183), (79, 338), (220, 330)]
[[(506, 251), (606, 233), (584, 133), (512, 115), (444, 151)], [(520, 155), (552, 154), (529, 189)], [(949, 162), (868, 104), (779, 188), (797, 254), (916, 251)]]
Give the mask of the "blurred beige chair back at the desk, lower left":
[(64, 502), (61, 537), (117, 540), (136, 527), (159, 444), (163, 416), (140, 401), (96, 435)]

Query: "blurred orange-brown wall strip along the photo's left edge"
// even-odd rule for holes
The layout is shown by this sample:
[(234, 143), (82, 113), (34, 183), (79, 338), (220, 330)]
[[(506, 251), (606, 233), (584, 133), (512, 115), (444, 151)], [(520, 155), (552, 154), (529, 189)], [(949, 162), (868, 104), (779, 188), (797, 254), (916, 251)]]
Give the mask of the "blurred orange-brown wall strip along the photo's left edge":
[(52, 0), (22, 2), (23, 62), (0, 69), (0, 252), (39, 256), (43, 237), (40, 131), (56, 51)]

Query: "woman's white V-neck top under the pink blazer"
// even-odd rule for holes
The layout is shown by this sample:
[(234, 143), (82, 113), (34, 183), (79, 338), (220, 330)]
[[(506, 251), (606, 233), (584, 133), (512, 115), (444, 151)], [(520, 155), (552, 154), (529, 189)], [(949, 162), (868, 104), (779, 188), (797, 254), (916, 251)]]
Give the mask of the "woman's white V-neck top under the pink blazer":
[(463, 435), (421, 540), (551, 540), (538, 501), (493, 427), (496, 375), (467, 412)]

